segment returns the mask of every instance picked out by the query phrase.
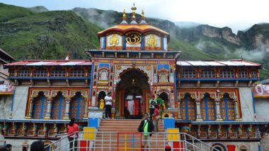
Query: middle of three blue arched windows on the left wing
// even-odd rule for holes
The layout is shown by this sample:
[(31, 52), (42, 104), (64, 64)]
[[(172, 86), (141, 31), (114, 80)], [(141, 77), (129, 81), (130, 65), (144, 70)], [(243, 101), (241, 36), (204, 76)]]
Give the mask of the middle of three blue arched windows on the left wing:
[(52, 119), (64, 119), (65, 106), (66, 103), (62, 96), (62, 92), (58, 92), (52, 102)]

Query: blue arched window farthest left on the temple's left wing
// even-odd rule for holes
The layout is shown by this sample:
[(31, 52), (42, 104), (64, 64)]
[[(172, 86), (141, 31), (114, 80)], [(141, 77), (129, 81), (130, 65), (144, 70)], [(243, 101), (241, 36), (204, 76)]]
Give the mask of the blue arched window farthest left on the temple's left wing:
[(43, 92), (39, 92), (38, 97), (33, 101), (33, 119), (43, 119), (47, 111), (47, 101)]

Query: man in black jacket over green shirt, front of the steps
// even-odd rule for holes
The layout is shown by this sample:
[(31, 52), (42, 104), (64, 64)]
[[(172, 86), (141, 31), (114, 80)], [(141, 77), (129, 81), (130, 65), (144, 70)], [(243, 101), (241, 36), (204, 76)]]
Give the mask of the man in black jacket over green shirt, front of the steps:
[(140, 122), (139, 127), (137, 128), (137, 131), (142, 132), (142, 150), (145, 147), (149, 146), (150, 137), (152, 135), (152, 132), (154, 131), (154, 124), (151, 120), (149, 120), (149, 114), (144, 114), (143, 121)]

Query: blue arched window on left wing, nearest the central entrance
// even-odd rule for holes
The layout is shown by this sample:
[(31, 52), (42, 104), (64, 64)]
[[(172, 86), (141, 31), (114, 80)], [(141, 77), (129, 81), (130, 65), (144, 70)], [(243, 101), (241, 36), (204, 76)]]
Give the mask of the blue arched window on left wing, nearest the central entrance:
[(76, 92), (76, 95), (71, 98), (70, 118), (84, 119), (85, 102), (84, 97), (81, 97), (81, 92)]

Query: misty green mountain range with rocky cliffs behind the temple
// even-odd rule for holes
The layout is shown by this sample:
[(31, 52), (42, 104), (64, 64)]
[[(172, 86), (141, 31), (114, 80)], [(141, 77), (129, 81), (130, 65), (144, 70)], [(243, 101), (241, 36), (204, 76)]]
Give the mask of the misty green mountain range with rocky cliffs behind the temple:
[[(147, 16), (147, 14), (146, 14)], [(141, 16), (136, 14), (137, 20)], [(97, 49), (97, 32), (117, 25), (122, 13), (96, 8), (48, 11), (0, 4), (0, 47), (17, 60), (87, 59), (85, 49)], [(127, 14), (130, 22), (131, 14)], [(253, 25), (237, 35), (231, 28), (173, 23), (146, 18), (147, 23), (170, 33), (170, 50), (181, 50), (181, 59), (245, 59), (263, 64), (261, 78), (269, 78), (269, 24)], [(193, 25), (193, 26), (191, 26)]]

